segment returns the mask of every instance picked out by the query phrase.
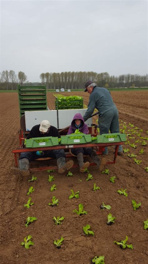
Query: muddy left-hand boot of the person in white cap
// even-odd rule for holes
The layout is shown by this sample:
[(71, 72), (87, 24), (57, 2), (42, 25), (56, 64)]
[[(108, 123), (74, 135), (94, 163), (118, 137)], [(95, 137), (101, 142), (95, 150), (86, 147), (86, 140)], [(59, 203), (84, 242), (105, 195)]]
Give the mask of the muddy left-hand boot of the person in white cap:
[(30, 172), (29, 172), (29, 160), (26, 158), (23, 158), (21, 160), (18, 161), (19, 163), (19, 167), (15, 168), (12, 167), (10, 169), (11, 173), (16, 173), (16, 174), (20, 174), (21, 176), (29, 176)]

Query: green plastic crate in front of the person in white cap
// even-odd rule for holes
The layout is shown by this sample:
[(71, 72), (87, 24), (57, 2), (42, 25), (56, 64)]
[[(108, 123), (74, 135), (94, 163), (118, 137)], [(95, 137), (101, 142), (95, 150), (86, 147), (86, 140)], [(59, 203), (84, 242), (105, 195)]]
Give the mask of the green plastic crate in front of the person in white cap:
[[(36, 140), (42, 140), (43, 142), (36, 142)], [(59, 145), (58, 137), (41, 137), (26, 140), (27, 148), (52, 147), (57, 145)]]

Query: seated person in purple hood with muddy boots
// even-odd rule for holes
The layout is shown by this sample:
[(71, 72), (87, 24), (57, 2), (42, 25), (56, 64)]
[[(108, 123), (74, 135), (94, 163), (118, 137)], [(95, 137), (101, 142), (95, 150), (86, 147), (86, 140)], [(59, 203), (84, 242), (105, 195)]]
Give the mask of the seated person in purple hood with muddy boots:
[[(79, 129), (79, 131), (83, 134), (89, 134), (88, 126), (85, 124), (84, 119), (81, 114), (75, 114), (72, 123), (69, 127), (67, 135), (75, 133), (76, 129)], [(73, 155), (77, 157), (77, 161), (79, 164), (80, 172), (84, 172), (85, 169), (89, 166), (89, 162), (86, 161), (84, 163), (83, 155), (89, 155), (93, 162), (97, 164), (99, 167), (99, 170), (102, 171), (103, 167), (106, 164), (106, 159), (102, 158), (100, 159), (94, 150), (90, 147), (86, 148), (73, 148), (71, 149), (71, 152)]]

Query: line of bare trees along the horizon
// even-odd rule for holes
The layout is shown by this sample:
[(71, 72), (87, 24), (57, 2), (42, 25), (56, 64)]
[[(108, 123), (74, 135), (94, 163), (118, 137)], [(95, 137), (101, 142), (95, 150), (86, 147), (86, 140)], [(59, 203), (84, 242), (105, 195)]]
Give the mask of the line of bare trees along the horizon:
[(148, 75), (123, 74), (119, 76), (109, 75), (108, 72), (93, 71), (65, 71), (61, 73), (46, 72), (40, 74), (41, 82), (29, 82), (24, 72), (2, 71), (0, 73), (0, 89), (16, 90), (17, 84), (24, 86), (45, 85), (47, 89), (83, 89), (87, 80), (92, 80), (98, 87), (147, 87)]

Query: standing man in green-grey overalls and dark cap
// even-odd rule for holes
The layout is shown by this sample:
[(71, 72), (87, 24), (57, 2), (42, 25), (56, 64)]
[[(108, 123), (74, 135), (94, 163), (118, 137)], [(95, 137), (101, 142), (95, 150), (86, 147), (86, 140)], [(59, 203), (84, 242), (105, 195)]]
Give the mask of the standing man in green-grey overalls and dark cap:
[[(103, 87), (97, 87), (96, 83), (89, 80), (85, 83), (85, 91), (90, 94), (88, 109), (83, 116), (84, 121), (91, 117), (96, 108), (99, 111), (99, 129), (100, 135), (119, 133), (118, 110), (114, 104), (110, 92)], [(108, 155), (108, 149), (105, 147), (103, 155)], [(118, 155), (123, 155), (122, 145), (119, 145)]]

